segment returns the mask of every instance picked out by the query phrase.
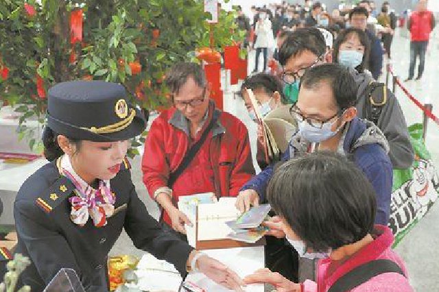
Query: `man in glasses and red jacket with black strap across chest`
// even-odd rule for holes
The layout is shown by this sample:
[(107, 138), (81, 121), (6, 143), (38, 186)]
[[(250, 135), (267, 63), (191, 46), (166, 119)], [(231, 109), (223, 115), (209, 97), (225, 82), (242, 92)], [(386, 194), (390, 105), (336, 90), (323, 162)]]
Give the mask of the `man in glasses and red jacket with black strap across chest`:
[[(236, 197), (254, 168), (246, 126), (215, 108), (200, 65), (176, 64), (166, 82), (174, 107), (152, 123), (142, 160), (143, 182), (163, 207), (165, 223), (185, 233), (184, 224), (191, 222), (176, 207), (180, 196), (211, 192)], [(200, 148), (189, 161), (184, 157), (194, 145)]]

